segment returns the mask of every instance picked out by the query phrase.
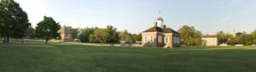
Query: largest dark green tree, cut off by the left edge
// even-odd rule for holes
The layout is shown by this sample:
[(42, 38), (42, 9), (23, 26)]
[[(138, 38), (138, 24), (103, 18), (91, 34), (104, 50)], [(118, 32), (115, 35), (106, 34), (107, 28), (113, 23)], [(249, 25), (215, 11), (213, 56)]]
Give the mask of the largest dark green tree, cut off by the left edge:
[(30, 26), (27, 14), (14, 0), (1, 0), (0, 2), (0, 33), (7, 38), (21, 38), (25, 36)]

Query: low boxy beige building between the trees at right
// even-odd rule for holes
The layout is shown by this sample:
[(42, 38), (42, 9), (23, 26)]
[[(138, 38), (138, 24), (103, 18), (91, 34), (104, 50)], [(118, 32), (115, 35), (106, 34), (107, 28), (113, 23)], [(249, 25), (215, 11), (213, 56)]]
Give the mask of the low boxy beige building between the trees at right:
[(202, 36), (202, 46), (218, 46), (217, 36)]

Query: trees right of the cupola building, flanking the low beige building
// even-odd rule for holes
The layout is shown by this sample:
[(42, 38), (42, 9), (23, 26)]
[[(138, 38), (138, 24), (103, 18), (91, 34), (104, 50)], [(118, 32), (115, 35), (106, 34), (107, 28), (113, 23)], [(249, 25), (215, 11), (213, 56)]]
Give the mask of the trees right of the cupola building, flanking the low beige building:
[[(183, 25), (178, 32), (181, 35), (183, 45), (201, 46), (201, 37), (203, 34), (200, 30), (196, 30), (194, 26)], [(250, 33), (228, 33), (221, 30), (213, 36), (218, 37), (218, 44), (227, 44), (230, 46), (235, 46), (236, 44), (242, 44), (244, 46), (256, 45), (256, 29)]]

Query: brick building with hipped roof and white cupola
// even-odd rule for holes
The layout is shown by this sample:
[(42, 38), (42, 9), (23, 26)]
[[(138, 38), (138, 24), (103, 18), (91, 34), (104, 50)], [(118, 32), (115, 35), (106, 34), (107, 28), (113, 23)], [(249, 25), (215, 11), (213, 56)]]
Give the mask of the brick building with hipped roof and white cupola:
[(143, 31), (143, 47), (180, 47), (180, 34), (171, 28), (167, 28), (163, 23), (164, 20), (159, 17), (153, 27)]

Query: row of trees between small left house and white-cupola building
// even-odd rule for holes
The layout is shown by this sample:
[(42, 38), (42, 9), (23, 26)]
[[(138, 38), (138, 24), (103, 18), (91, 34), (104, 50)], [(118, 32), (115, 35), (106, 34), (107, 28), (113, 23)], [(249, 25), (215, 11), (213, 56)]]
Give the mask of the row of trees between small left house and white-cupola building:
[(118, 31), (112, 25), (107, 28), (86, 27), (81, 30), (78, 36), (81, 42), (91, 43), (135, 43), (140, 42), (142, 39), (141, 34), (131, 34), (127, 30)]

